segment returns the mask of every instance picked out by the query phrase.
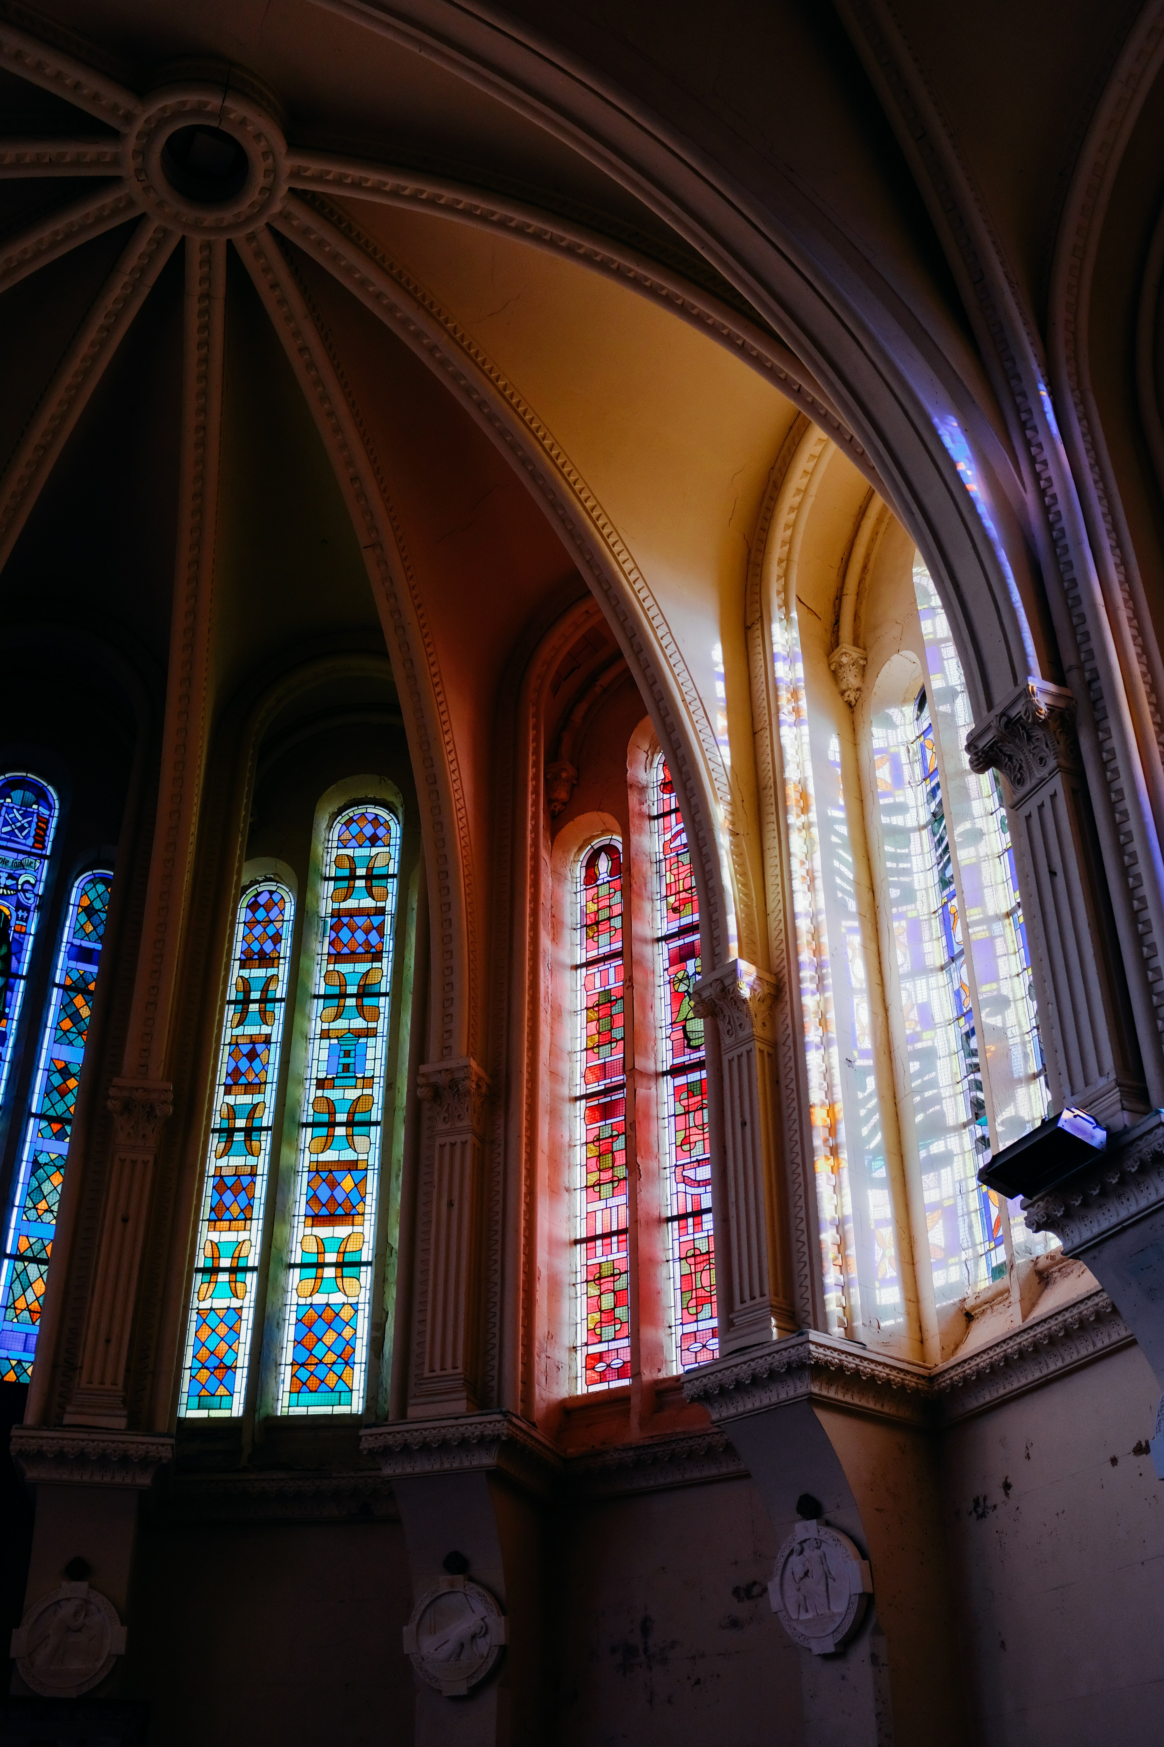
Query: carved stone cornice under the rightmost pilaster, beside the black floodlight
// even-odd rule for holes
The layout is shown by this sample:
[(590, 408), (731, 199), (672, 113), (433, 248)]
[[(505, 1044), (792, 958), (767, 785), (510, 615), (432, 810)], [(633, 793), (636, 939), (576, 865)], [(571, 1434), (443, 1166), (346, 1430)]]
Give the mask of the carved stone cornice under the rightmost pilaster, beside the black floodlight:
[(1031, 1232), (1054, 1232), (1070, 1256), (1164, 1202), (1164, 1120), (1155, 1111), (1127, 1134), (1108, 1136), (1098, 1164), (1023, 1202)]

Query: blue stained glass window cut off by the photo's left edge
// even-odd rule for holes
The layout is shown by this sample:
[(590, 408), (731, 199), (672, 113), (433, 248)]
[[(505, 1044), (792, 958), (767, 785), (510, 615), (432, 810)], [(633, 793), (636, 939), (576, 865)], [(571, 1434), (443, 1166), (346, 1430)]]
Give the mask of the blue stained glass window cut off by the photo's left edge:
[(40, 777), (0, 777), (0, 1102), (12, 1066), (56, 816), (56, 795)]

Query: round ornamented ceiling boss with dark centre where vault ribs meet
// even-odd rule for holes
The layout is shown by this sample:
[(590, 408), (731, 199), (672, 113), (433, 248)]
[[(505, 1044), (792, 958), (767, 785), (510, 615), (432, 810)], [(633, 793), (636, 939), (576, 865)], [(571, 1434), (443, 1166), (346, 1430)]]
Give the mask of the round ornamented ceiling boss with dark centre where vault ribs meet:
[(122, 152), (141, 204), (178, 231), (243, 236), (286, 192), (279, 124), (253, 98), (201, 80), (148, 96)]

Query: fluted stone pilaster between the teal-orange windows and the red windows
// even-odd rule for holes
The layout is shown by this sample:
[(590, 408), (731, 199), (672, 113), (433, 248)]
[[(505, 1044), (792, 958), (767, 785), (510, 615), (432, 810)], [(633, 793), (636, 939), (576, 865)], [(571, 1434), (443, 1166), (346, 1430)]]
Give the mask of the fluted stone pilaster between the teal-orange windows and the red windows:
[(408, 1419), (476, 1406), (478, 1205), (489, 1078), (471, 1057), (417, 1073), (426, 1106)]

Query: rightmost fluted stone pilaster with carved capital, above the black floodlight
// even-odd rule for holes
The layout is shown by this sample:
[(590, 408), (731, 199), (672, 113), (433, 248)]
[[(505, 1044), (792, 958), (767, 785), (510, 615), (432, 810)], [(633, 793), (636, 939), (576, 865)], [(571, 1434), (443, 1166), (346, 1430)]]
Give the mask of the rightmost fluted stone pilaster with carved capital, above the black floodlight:
[(1112, 905), (1075, 737), (1075, 699), (1026, 680), (967, 735), (970, 769), (1002, 772), (1024, 893), (1051, 1095), (1108, 1129), (1147, 1108)]

